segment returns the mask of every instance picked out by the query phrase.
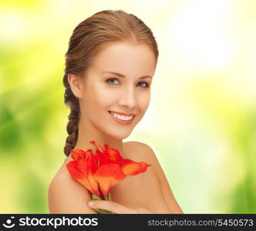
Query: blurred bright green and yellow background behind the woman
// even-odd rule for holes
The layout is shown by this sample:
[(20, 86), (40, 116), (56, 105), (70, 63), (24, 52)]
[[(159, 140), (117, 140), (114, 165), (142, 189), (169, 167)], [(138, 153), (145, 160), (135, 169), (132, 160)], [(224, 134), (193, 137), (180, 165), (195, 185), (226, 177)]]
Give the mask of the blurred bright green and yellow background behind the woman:
[(141, 18), (160, 57), (150, 107), (124, 141), (150, 145), (184, 213), (256, 212), (256, 2), (2, 1), (0, 213), (49, 213), (69, 109), (64, 54), (103, 9)]

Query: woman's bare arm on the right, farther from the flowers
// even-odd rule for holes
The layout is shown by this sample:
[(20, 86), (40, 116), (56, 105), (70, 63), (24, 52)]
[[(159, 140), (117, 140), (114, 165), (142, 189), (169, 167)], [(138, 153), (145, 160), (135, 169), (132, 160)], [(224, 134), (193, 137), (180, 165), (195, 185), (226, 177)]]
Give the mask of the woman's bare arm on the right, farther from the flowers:
[(173, 192), (170, 189), (167, 177), (165, 176), (163, 169), (161, 168), (160, 163), (157, 160), (157, 156), (153, 152), (153, 149), (151, 149), (150, 146), (144, 143), (143, 148), (145, 150), (145, 153), (147, 153), (147, 155), (149, 156), (151, 162), (153, 162), (153, 169), (155, 170), (157, 177), (160, 181), (163, 198), (167, 203), (167, 206), (170, 208), (170, 211), (172, 211), (172, 213), (183, 213), (179, 204), (177, 203), (176, 199), (173, 196)]

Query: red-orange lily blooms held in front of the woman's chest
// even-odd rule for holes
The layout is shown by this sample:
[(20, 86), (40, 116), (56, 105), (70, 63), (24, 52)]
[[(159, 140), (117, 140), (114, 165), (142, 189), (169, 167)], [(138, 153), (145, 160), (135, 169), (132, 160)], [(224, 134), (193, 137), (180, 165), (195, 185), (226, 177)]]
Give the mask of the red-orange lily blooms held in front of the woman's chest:
[(117, 149), (111, 149), (108, 145), (104, 145), (103, 149), (95, 141), (90, 143), (96, 146), (96, 155), (93, 155), (92, 149), (86, 152), (83, 149), (72, 149), (71, 157), (74, 160), (66, 167), (74, 179), (98, 197), (101, 192), (106, 198), (113, 186), (126, 176), (146, 172), (150, 166), (147, 162), (123, 159)]

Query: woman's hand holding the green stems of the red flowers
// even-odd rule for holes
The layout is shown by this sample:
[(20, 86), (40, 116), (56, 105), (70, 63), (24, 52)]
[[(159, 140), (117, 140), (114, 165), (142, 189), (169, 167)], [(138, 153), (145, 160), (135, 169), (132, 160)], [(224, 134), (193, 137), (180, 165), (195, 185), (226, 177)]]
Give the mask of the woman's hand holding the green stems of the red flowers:
[[(91, 203), (93, 203), (93, 204), (91, 204)], [(115, 203), (115, 202), (109, 201), (109, 200), (90, 200), (88, 203), (88, 206), (92, 209), (104, 209), (104, 210), (108, 210), (113, 213), (120, 213), (120, 214), (125, 214), (125, 213), (135, 213), (135, 214), (150, 213), (150, 214), (153, 214), (152, 212), (150, 212), (147, 209), (143, 209), (143, 208), (133, 209), (133, 208), (129, 208), (126, 206), (122, 206), (119, 203)]]

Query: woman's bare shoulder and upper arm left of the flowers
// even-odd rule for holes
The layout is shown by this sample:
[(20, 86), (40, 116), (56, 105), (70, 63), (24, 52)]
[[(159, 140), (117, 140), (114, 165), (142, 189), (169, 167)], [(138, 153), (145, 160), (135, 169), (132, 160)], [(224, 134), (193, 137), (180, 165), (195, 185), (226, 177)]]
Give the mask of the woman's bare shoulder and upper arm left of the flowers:
[(87, 206), (92, 199), (89, 191), (66, 168), (61, 168), (49, 183), (49, 213), (96, 213)]

